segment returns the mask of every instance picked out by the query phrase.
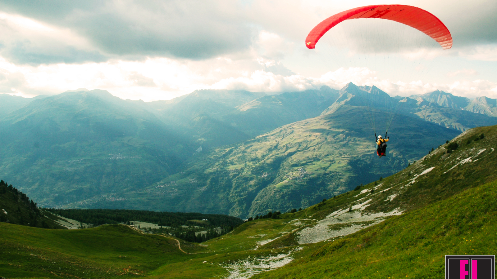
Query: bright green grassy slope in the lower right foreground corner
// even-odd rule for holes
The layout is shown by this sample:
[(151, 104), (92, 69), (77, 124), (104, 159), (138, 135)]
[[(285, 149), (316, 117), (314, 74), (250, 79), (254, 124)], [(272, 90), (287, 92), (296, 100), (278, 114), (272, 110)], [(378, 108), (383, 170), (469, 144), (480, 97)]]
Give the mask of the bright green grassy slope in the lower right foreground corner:
[(443, 278), (445, 255), (497, 253), (497, 181), (339, 237), (256, 278)]

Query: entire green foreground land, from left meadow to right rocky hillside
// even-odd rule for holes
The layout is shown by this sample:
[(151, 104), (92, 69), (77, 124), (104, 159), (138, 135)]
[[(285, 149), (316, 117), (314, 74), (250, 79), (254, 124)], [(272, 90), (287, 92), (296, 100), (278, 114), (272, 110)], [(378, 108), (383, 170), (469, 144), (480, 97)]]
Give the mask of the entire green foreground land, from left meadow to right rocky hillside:
[[(497, 252), (496, 144), (497, 125), (466, 130), (391, 176), (308, 208), (249, 218), (202, 243), (140, 229), (144, 222), (55, 229), (78, 221), (54, 212), (89, 219), (105, 210), (39, 209), (2, 181), (0, 277), (441, 278), (443, 255)], [(170, 226), (207, 223), (186, 220), (201, 217), (237, 222), (200, 213), (107, 212), (110, 219), (162, 216)]]

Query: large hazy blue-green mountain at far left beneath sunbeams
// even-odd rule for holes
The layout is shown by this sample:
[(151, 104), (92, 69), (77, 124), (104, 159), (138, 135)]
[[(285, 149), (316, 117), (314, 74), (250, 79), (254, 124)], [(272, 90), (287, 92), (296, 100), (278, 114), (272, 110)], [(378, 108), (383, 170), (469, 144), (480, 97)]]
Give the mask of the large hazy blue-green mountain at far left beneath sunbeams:
[(174, 173), (194, 147), (136, 103), (103, 90), (30, 102), (0, 122), (1, 174), (57, 206)]

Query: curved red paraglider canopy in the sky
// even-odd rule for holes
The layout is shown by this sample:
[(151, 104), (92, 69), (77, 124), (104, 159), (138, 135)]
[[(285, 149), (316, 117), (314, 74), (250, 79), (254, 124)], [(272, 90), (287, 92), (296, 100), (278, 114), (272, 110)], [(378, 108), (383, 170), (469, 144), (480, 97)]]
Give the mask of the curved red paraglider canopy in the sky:
[(452, 47), (449, 29), (430, 12), (408, 5), (370, 5), (342, 11), (321, 21), (307, 35), (307, 48), (313, 49), (319, 39), (336, 24), (355, 18), (383, 18), (397, 21), (430, 36), (444, 50)]

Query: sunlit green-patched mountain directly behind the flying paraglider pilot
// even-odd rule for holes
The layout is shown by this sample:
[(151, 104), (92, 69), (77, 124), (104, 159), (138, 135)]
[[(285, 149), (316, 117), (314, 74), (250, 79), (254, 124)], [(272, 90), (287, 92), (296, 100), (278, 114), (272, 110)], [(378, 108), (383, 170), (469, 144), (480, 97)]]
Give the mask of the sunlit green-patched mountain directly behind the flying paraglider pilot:
[[(403, 169), (408, 161), (458, 135), (456, 130), (398, 116), (388, 156), (374, 154), (374, 134), (360, 107), (282, 126), (255, 139), (214, 148), (180, 173), (116, 202), (90, 199), (67, 207), (201, 211), (254, 216), (304, 208)], [(377, 117), (384, 112), (375, 111)], [(388, 168), (385, 168), (388, 166)]]

